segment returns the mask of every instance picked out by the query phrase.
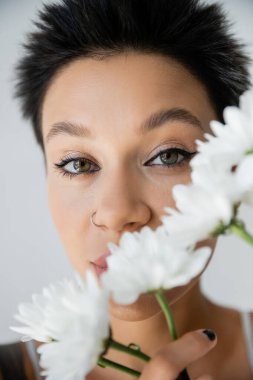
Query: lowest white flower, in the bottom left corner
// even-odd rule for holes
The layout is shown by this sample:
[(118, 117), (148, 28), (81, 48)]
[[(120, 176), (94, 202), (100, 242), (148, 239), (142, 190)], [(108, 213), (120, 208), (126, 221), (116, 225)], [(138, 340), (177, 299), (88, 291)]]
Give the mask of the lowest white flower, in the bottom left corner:
[(25, 339), (47, 342), (38, 348), (48, 380), (83, 380), (97, 363), (109, 337), (109, 294), (87, 271), (86, 281), (65, 280), (33, 295), (16, 316)]

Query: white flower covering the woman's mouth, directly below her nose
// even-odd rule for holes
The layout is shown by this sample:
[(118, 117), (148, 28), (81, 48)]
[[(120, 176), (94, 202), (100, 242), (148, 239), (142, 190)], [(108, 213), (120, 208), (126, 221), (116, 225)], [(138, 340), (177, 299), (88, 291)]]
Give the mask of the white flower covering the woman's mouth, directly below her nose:
[(174, 244), (163, 226), (126, 232), (119, 246), (108, 246), (112, 255), (107, 257), (108, 271), (101, 281), (119, 304), (133, 303), (142, 293), (187, 284), (201, 272), (211, 253), (209, 247), (192, 251)]

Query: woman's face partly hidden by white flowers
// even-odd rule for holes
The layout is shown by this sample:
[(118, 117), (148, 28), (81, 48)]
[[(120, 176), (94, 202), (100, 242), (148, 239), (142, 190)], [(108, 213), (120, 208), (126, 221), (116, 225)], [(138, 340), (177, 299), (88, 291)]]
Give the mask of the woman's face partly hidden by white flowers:
[(159, 55), (82, 58), (55, 76), (42, 109), (49, 207), (80, 274), (123, 232), (161, 224), (216, 118), (204, 86)]

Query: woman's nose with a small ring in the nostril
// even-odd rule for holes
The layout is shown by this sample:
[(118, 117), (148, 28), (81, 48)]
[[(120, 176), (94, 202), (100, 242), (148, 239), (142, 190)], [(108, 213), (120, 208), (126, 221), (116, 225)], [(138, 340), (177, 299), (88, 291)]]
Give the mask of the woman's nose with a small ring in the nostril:
[[(94, 222), (114, 231), (138, 231), (151, 219), (151, 208), (142, 196), (140, 183), (125, 175), (111, 175), (100, 184)], [(139, 185), (139, 186), (138, 186)]]

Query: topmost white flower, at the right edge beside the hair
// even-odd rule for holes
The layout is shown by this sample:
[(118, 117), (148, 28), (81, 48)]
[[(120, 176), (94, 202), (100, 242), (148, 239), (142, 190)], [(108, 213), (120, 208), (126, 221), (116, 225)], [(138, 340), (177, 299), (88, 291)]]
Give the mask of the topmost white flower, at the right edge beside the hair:
[(253, 89), (240, 97), (240, 108), (229, 106), (223, 112), (225, 125), (211, 121), (214, 135), (205, 133), (207, 141), (196, 140), (198, 154), (190, 165), (212, 163), (230, 170), (240, 163), (247, 152), (253, 152)]

